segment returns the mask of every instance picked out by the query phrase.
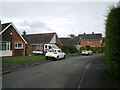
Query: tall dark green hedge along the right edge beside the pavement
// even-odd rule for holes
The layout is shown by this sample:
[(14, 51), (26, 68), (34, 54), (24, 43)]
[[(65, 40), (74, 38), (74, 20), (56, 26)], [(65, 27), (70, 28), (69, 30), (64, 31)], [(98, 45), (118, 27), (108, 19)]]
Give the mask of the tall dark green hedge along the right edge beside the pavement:
[(107, 15), (105, 61), (109, 76), (120, 80), (120, 7), (111, 8)]

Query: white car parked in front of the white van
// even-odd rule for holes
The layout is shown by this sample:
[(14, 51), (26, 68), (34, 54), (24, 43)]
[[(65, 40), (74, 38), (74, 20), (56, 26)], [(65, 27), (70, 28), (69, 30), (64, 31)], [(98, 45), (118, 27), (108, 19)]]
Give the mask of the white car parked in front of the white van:
[(65, 58), (65, 53), (61, 49), (51, 49), (47, 51), (47, 53), (45, 54), (45, 58), (53, 58), (54, 60), (58, 60), (61, 58)]

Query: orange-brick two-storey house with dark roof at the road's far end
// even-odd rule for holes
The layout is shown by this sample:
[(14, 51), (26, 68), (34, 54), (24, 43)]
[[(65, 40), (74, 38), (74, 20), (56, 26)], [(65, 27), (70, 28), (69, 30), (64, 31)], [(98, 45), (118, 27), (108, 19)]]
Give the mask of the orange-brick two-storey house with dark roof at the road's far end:
[(102, 46), (102, 34), (79, 34), (80, 47), (91, 46), (91, 47), (101, 47)]

